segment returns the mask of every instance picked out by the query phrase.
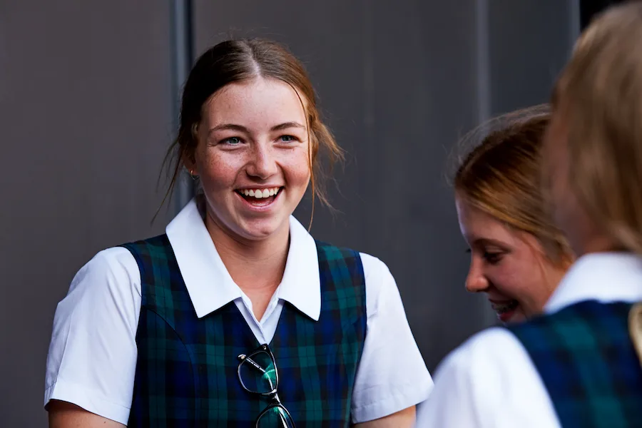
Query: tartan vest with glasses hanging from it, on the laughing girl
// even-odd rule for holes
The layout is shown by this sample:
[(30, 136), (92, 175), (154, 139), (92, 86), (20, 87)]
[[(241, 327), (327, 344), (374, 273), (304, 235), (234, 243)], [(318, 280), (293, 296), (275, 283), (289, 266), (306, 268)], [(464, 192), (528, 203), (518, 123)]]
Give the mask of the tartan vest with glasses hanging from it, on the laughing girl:
[[(167, 235), (123, 246), (142, 288), (128, 427), (254, 428), (267, 401), (241, 387), (237, 356), (262, 344), (234, 302), (199, 319)], [(317, 254), (319, 320), (285, 302), (269, 345), (295, 424), (347, 427), (366, 335), (365, 277), (355, 251), (317, 242)]]

